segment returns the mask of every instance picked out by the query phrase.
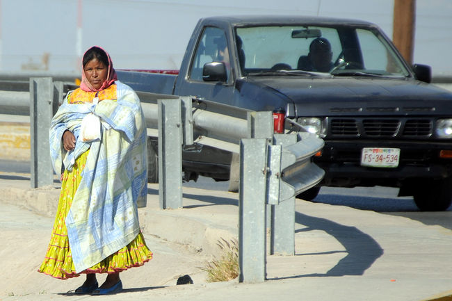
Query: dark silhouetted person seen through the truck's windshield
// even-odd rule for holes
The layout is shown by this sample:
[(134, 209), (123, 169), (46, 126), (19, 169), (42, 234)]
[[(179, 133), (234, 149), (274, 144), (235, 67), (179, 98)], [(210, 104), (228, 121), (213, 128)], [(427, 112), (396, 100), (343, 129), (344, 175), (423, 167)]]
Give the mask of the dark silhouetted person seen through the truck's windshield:
[(334, 67), (331, 58), (330, 42), (325, 38), (316, 38), (309, 45), (309, 54), (298, 59), (298, 70), (330, 72)]

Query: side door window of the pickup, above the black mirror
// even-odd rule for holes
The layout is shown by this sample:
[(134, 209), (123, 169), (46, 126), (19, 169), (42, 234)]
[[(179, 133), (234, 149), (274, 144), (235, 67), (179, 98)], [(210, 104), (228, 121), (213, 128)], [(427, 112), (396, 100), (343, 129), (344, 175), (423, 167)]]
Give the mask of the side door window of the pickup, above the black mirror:
[(225, 32), (217, 27), (206, 27), (197, 43), (195, 56), (192, 59), (189, 79), (202, 81), (202, 67), (211, 62), (223, 62), (226, 65), (229, 79), (229, 51)]

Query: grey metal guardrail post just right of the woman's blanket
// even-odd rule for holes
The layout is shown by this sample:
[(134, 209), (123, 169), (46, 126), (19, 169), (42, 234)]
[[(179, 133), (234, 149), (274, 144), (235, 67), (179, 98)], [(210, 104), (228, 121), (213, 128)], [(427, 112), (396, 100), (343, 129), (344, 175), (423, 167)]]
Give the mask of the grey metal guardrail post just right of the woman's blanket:
[(182, 207), (181, 99), (159, 99), (159, 201), (161, 209)]

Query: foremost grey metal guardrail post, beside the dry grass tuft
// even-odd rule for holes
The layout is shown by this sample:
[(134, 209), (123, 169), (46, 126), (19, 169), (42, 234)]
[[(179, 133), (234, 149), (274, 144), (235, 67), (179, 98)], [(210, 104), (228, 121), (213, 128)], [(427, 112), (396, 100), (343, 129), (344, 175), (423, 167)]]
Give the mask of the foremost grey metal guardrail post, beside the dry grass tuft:
[(240, 282), (264, 282), (266, 272), (266, 139), (242, 139), (240, 147)]

